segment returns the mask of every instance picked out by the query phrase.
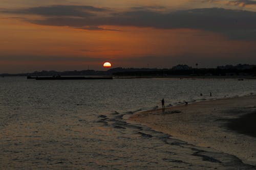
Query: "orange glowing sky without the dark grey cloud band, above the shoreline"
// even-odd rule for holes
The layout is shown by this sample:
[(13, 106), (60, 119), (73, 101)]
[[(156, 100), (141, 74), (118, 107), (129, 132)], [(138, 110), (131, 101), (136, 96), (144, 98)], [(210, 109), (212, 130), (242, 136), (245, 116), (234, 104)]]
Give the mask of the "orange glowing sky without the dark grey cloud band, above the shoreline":
[[(184, 11), (187, 10), (189, 4), (190, 6), (192, 4), (193, 8), (191, 9), (197, 9), (209, 6), (210, 3), (200, 4), (185, 0), (167, 4), (165, 1), (159, 1), (158, 4), (154, 4), (154, 1), (140, 1), (139, 3), (137, 1), (120, 1), (117, 4), (114, 3), (115, 1), (108, 1), (108, 3), (106, 1), (76, 1), (76, 3), (67, 1), (67, 4), (72, 4), (69, 6), (60, 4), (61, 1), (45, 1), (43, 4), (36, 4), (29, 0), (16, 0), (13, 1), (16, 3), (14, 7), (10, 6), (8, 2), (0, 2), (0, 5), (2, 3), (5, 8), (0, 15), (0, 73), (31, 72), (43, 69), (81, 70), (87, 69), (88, 66), (90, 69), (103, 69), (101, 64), (104, 61), (111, 61), (113, 67), (146, 67), (148, 64), (150, 67), (158, 68), (171, 68), (177, 64), (194, 66), (195, 63), (199, 63), (202, 67), (256, 63), (255, 39), (246, 36), (240, 37), (240, 34), (239, 36), (231, 35), (229, 34), (230, 29), (225, 30), (226, 25), (221, 26), (220, 28), (224, 29), (220, 31), (218, 28), (211, 29), (201, 26), (201, 23), (197, 25), (197, 18), (195, 24), (192, 22), (193, 25), (189, 20), (186, 21), (187, 26), (177, 26), (183, 21), (179, 22), (179, 18), (174, 18), (174, 21), (177, 22), (175, 28), (172, 23), (168, 23), (168, 26), (165, 25), (165, 22), (169, 20), (159, 22), (159, 28), (159, 19), (152, 19), (152, 22), (156, 22), (156, 24), (151, 22), (151, 18), (154, 17), (151, 15), (152, 11), (156, 15), (160, 11), (160, 17), (169, 17), (164, 13), (174, 11), (174, 7), (177, 7), (176, 11)], [(114, 21), (109, 21), (109, 25), (106, 25), (108, 22), (100, 20), (99, 23), (96, 23), (92, 19), (89, 20), (91, 23), (89, 26), (78, 27), (73, 20), (71, 22), (68, 20), (67, 26), (65, 26), (66, 23), (63, 26), (56, 26), (50, 21), (45, 24), (38, 20), (55, 19), (55, 17), (60, 17), (59, 13), (53, 14), (56, 16), (52, 16), (52, 14), (48, 16), (47, 11), (42, 11), (44, 12), (42, 14), (33, 14), (30, 11), (30, 13), (12, 11), (13, 9), (26, 10), (32, 7), (50, 7), (51, 5), (67, 5), (69, 8), (74, 8), (74, 4), (76, 4), (75, 6), (90, 5), (99, 9), (108, 9), (105, 10), (108, 12), (106, 15), (113, 15), (114, 12), (109, 12), (109, 9), (115, 11), (125, 11), (126, 9), (130, 12), (132, 7), (143, 7), (143, 10), (135, 12), (138, 12), (138, 15), (144, 12), (141, 15), (144, 19), (144, 15), (149, 11), (148, 16), (151, 18), (148, 22), (142, 20), (143, 25), (140, 25), (140, 22), (133, 23), (134, 19), (127, 20), (126, 23), (124, 19), (117, 21), (112, 17), (111, 19)], [(227, 5), (224, 1), (211, 3), (209, 7), (219, 4), (221, 7), (224, 4), (227, 9), (234, 8), (233, 4)], [(129, 8), (127, 8), (128, 5)], [(169, 8), (162, 8), (164, 5)], [(254, 7), (251, 4), (248, 6), (250, 7), (249, 11), (252, 9), (251, 6)], [(246, 7), (238, 6), (237, 8), (244, 10)], [(132, 10), (132, 12), (134, 11)], [(94, 11), (94, 13), (101, 15), (102, 12)], [(74, 16), (75, 19), (81, 18), (80, 13), (78, 14), (79, 16)], [(126, 13), (120, 12), (119, 15), (124, 14)], [(89, 17), (95, 16), (89, 15)], [(244, 26), (247, 30), (248, 27), (254, 29), (254, 25), (247, 26), (246, 23), (243, 23), (242, 29)]]

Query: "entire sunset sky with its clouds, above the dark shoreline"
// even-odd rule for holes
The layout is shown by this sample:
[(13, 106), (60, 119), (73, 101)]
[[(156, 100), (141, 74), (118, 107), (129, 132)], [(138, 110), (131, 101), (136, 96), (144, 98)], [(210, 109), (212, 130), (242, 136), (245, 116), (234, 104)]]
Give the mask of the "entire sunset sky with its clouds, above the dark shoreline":
[(256, 64), (256, 1), (0, 0), (0, 73)]

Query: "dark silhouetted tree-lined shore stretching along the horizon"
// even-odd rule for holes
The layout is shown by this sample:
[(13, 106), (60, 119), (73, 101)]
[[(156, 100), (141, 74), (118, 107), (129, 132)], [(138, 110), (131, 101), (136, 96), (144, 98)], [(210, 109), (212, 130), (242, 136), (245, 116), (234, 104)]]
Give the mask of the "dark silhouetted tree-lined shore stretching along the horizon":
[(238, 64), (218, 66), (217, 68), (192, 68), (187, 65), (177, 65), (173, 68), (112, 68), (106, 71), (73, 70), (73, 71), (35, 71), (24, 74), (1, 74), (0, 76), (115, 76), (115, 78), (145, 78), (145, 77), (245, 77), (256, 76), (256, 65)]

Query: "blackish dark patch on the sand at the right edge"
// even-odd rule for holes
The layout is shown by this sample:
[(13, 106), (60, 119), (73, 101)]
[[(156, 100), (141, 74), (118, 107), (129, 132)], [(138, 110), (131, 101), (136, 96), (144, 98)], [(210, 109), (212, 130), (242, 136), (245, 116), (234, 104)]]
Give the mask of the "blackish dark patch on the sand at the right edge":
[(242, 134), (256, 137), (256, 112), (229, 119), (228, 128)]

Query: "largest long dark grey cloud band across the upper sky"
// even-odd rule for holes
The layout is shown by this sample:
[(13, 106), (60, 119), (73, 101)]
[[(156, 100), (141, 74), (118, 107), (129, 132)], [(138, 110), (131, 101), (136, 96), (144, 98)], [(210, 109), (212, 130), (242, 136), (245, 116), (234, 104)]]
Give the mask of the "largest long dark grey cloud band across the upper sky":
[[(252, 3), (250, 0), (246, 2)], [(92, 6), (50, 6), (11, 12), (44, 16), (45, 19), (27, 19), (27, 21), (37, 25), (69, 26), (98, 31), (111, 30), (102, 29), (100, 26), (199, 29), (222, 33), (232, 39), (256, 40), (256, 12), (223, 8), (202, 8), (175, 12), (155, 9), (163, 8), (139, 7), (117, 12)]]

